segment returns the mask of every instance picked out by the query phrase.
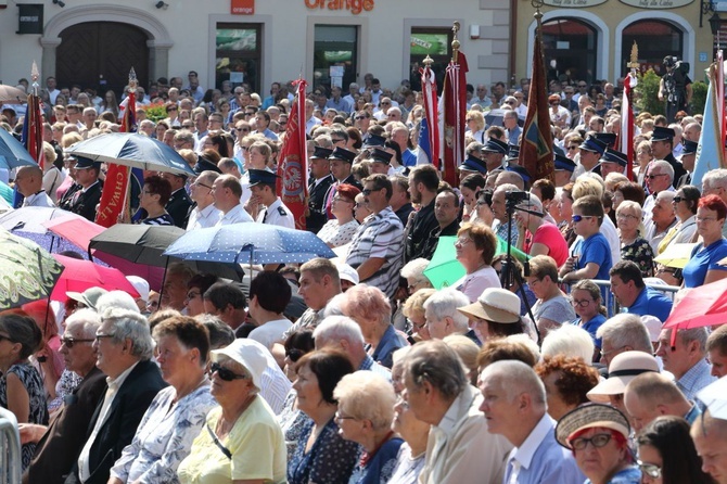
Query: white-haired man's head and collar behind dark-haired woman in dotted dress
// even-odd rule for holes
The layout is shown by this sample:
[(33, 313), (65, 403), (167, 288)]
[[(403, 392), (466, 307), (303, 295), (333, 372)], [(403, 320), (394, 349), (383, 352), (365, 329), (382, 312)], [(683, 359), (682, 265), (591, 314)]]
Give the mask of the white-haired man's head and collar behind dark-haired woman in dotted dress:
[(314, 330), (316, 349), (334, 348), (343, 352), (356, 370), (370, 370), (391, 380), (388, 368), (366, 353), (364, 333), (356, 321), (346, 316), (329, 316)]

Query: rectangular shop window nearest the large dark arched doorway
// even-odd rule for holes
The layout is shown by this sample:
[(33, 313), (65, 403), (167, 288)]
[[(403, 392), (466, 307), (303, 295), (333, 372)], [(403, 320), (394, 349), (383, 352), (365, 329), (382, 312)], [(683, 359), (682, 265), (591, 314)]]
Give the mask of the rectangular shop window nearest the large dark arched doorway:
[(259, 90), (260, 30), (259, 24), (217, 24), (217, 89), (220, 89), (224, 80), (229, 80), (232, 87), (247, 84), (254, 92)]

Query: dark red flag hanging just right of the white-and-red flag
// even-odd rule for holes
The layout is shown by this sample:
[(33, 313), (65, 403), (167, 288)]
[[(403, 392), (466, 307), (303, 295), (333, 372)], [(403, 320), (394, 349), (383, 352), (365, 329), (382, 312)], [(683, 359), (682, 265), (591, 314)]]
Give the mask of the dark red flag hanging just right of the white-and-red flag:
[(467, 116), (467, 59), (456, 51), (444, 77), (444, 166), (442, 179), (457, 187), (457, 167), (464, 161), (464, 117)]

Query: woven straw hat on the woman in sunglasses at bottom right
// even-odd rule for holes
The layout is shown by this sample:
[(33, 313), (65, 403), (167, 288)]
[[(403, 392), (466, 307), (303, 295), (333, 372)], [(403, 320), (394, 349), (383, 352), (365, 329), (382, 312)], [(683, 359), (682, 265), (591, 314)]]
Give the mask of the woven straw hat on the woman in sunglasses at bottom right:
[(628, 419), (616, 408), (602, 404), (586, 404), (565, 413), (556, 425), (556, 440), (565, 448), (572, 448), (573, 435), (587, 429), (611, 429), (628, 440)]

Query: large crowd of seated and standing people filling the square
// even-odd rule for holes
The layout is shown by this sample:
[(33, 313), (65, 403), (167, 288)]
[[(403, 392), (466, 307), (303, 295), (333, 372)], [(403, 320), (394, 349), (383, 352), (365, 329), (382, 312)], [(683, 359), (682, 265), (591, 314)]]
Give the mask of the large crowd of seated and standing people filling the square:
[[(137, 91), (139, 132), (196, 176), (145, 173), (135, 222), (294, 228), (276, 191), (294, 87), (188, 79)], [(130, 278), (136, 300), (0, 313), (24, 481), (727, 483), (727, 326), (664, 327), (727, 276), (727, 170), (690, 184), (700, 118), (640, 113), (629, 180), (617, 87), (553, 81), (556, 171), (534, 180), (516, 163), (527, 79), (479, 85), (451, 186), (421, 162), (420, 93), (364, 79), (301, 100), (306, 230), (335, 259), (242, 284), (175, 263), (160, 292)], [(105, 166), (64, 149), (118, 130), (119, 107), (65, 91), (47, 79), (44, 171), (5, 181), (22, 206), (93, 220)], [(168, 117), (146, 119), (157, 101)], [(442, 286), (428, 267), (451, 240), (461, 277)], [(681, 268), (658, 262), (679, 244)]]

